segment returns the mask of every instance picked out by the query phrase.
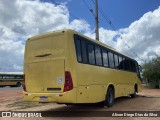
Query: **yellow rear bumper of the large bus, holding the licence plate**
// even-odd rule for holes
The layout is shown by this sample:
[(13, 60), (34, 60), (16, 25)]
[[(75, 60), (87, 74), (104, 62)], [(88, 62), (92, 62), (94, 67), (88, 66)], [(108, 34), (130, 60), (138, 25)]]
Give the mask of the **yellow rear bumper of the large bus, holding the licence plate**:
[(28, 93), (23, 91), (23, 99), (30, 102), (76, 103), (76, 94), (74, 90), (63, 93)]

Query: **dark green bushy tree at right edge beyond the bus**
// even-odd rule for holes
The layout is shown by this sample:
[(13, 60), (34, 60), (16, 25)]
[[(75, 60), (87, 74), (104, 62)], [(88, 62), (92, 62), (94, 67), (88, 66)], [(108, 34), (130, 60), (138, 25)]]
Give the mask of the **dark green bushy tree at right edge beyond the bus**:
[(160, 80), (160, 56), (143, 65), (143, 77), (149, 81)]

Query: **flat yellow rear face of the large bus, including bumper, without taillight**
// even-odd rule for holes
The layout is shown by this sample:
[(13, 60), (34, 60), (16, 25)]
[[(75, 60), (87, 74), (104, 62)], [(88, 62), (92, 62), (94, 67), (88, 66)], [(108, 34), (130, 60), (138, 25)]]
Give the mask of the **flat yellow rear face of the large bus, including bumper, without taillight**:
[(68, 67), (70, 43), (67, 43), (70, 41), (67, 41), (67, 35), (64, 32), (53, 32), (27, 41), (24, 62), (27, 90), (23, 92), (25, 101), (43, 102), (40, 97), (44, 96), (47, 98), (45, 102), (76, 102), (75, 81), (72, 92), (63, 92), (65, 71), (70, 71)]

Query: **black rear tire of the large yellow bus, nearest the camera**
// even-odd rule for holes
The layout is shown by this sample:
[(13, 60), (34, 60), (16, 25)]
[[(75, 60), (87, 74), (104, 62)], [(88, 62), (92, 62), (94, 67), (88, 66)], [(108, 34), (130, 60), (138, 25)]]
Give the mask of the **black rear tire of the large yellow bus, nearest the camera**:
[(112, 107), (114, 104), (114, 90), (109, 87), (104, 101), (104, 106)]

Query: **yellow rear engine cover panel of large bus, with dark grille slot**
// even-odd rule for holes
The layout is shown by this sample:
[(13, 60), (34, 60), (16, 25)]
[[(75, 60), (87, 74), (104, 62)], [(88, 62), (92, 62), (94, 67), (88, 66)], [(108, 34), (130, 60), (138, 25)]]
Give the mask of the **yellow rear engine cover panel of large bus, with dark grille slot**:
[(27, 64), (25, 79), (30, 93), (62, 92), (64, 85), (64, 60), (51, 60)]

